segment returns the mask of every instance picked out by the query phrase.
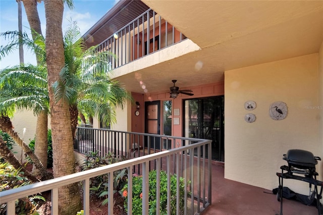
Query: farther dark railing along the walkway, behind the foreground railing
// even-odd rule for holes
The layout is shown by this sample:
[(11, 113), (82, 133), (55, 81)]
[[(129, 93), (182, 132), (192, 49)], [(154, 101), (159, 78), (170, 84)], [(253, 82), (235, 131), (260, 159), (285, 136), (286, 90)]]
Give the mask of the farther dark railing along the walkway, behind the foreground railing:
[[(118, 157), (123, 156), (127, 159), (131, 159), (163, 150), (198, 143), (200, 141), (204, 140), (167, 135), (114, 131), (109, 129), (77, 127), (74, 150), (83, 154), (97, 152), (97, 155), (101, 157), (109, 153), (114, 153)], [(203, 151), (201, 151), (201, 153), (204, 154), (206, 152), (204, 151), (203, 153)], [(189, 152), (187, 152), (187, 154), (189, 154)], [(196, 155), (197, 154), (195, 154), (195, 156)], [(174, 167), (176, 165), (175, 159), (176, 157), (174, 155), (172, 158), (172, 164), (174, 164)], [(164, 165), (163, 161), (160, 162), (160, 165)], [(149, 170), (155, 168), (156, 163), (149, 164)], [(141, 169), (142, 167), (140, 165), (134, 166), (134, 173), (141, 174)]]

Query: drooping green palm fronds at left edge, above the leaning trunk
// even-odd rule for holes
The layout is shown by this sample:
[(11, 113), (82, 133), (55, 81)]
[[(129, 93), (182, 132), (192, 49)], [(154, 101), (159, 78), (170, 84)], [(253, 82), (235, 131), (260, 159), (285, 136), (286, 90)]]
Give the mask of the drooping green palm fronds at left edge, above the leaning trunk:
[(0, 71), (0, 107), (6, 112), (48, 112), (47, 72), (44, 66), (15, 66)]

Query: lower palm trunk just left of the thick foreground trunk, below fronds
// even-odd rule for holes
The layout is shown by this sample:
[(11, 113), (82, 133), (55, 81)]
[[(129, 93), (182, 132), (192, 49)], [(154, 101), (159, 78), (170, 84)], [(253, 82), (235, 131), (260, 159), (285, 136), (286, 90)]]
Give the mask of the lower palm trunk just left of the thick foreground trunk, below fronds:
[[(46, 112), (41, 112), (37, 117), (36, 124), (36, 136), (35, 136), (35, 155), (38, 157), (44, 168), (47, 167), (47, 148), (48, 148), (48, 139), (47, 139), (47, 123), (48, 117)], [(40, 171), (33, 167), (32, 173), (34, 175), (39, 175)]]

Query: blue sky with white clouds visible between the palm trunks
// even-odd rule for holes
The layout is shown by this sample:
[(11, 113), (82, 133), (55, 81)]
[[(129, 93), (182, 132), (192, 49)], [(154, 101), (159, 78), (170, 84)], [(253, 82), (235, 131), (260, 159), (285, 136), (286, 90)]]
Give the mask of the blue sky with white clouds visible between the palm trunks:
[[(86, 33), (104, 14), (109, 11), (118, 0), (74, 0), (74, 9), (71, 11), (67, 6), (63, 15), (63, 34), (70, 20), (76, 21), (80, 28), (81, 34)], [(38, 14), (41, 22), (42, 33), (46, 32), (45, 8), (44, 3), (38, 4)], [(30, 34), (29, 24), (26, 17), (25, 9), (22, 4), (22, 26), (23, 31)], [(18, 4), (16, 0), (0, 0), (0, 32), (18, 30)], [(0, 38), (0, 45), (6, 45), (8, 40)], [(25, 64), (36, 64), (35, 57), (32, 53), (24, 50)], [(8, 66), (19, 64), (19, 53), (15, 51), (8, 57), (3, 58), (0, 62), (0, 69)]]

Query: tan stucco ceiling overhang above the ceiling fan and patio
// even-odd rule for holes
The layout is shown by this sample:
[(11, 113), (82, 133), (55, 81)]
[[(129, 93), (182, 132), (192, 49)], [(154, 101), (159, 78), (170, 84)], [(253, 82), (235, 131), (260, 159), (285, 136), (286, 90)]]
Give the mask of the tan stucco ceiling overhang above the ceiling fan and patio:
[[(173, 79), (181, 87), (223, 82), (225, 71), (317, 53), (322, 43), (323, 1), (142, 2), (199, 48), (141, 69), (131, 66), (138, 60), (130, 63), (133, 69), (116, 79), (137, 93), (144, 89), (136, 77), (148, 93), (169, 91)], [(103, 26), (92, 30), (104, 32)], [(150, 58), (158, 59), (158, 52)]]

